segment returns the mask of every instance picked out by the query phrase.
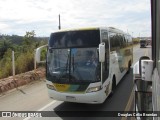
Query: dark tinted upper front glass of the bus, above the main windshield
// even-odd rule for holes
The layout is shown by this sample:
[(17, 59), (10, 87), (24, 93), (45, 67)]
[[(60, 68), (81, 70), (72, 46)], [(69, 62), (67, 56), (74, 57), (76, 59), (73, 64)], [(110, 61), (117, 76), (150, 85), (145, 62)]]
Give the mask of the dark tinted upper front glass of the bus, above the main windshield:
[(98, 47), (99, 43), (99, 30), (65, 31), (52, 33), (49, 40), (49, 47)]

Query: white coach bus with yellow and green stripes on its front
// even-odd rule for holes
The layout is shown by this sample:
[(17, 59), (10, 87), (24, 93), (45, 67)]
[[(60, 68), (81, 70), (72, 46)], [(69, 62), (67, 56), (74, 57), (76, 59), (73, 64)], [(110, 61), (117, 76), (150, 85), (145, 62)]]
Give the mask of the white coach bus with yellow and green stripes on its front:
[[(37, 59), (40, 49), (37, 49)], [(46, 60), (50, 98), (77, 103), (103, 103), (129, 72), (132, 38), (111, 27), (51, 33)]]

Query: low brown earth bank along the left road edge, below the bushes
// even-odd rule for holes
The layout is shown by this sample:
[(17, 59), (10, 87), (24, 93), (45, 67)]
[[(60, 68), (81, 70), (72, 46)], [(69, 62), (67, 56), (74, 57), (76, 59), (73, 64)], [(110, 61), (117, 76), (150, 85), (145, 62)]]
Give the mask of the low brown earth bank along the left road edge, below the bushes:
[(26, 73), (15, 75), (4, 79), (0, 79), (0, 94), (8, 90), (18, 88), (35, 80), (45, 78), (45, 68), (38, 68), (36, 71), (29, 71)]

